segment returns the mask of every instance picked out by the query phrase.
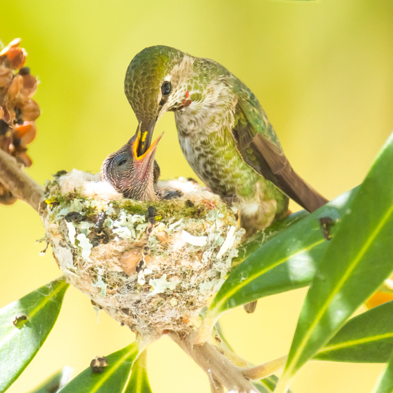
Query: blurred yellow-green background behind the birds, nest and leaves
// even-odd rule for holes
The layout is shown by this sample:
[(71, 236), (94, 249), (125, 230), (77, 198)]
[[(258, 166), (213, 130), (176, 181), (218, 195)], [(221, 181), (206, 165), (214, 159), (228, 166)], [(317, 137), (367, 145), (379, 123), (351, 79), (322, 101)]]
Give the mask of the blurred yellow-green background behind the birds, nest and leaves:
[[(42, 114), (27, 172), (44, 183), (58, 170), (98, 172), (137, 121), (123, 94), (128, 63), (147, 46), (174, 46), (231, 70), (259, 98), (295, 170), (332, 199), (360, 183), (393, 130), (391, 0), (1, 1), (0, 39), (23, 39), (41, 81)], [(162, 177), (193, 176), (172, 114), (157, 152)], [(295, 205), (292, 208), (296, 209)], [(61, 275), (34, 244), (37, 213), (0, 205), (0, 307)], [(253, 363), (288, 353), (305, 290), (259, 301), (255, 314), (222, 318), (230, 343)], [(42, 350), (10, 387), (23, 393), (64, 365), (74, 375), (134, 336), (108, 316), (99, 323), (74, 288)], [(208, 392), (208, 379), (168, 338), (148, 351), (154, 393)], [(308, 363), (294, 393), (370, 392), (381, 365)]]

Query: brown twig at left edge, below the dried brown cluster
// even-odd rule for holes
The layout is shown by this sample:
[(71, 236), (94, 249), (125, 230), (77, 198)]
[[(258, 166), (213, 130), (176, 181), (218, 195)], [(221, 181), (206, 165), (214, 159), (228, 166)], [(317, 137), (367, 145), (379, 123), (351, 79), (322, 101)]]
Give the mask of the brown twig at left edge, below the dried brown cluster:
[(0, 149), (0, 183), (14, 196), (28, 203), (34, 210), (39, 209), (43, 188), (23, 172), (14, 157)]

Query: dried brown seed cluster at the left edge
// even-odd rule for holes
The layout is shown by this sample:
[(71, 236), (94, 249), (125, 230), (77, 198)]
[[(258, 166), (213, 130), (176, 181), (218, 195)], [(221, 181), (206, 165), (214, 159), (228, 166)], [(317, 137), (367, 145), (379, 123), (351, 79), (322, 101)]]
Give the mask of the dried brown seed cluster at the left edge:
[[(21, 39), (14, 39), (0, 52), (0, 149), (29, 167), (32, 161), (27, 151), (37, 133), (35, 120), (41, 111), (32, 99), (37, 79), (30, 68), (23, 67), (26, 50), (19, 48)], [(0, 184), (0, 203), (10, 205), (16, 199)]]

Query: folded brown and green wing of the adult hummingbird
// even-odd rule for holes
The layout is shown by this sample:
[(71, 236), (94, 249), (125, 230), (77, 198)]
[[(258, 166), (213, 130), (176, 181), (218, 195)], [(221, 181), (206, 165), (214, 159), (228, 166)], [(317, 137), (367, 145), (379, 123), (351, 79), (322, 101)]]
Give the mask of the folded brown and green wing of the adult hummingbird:
[(254, 94), (243, 83), (237, 85), (234, 92), (239, 101), (232, 134), (243, 160), (305, 210), (314, 212), (328, 203), (328, 199), (294, 172)]

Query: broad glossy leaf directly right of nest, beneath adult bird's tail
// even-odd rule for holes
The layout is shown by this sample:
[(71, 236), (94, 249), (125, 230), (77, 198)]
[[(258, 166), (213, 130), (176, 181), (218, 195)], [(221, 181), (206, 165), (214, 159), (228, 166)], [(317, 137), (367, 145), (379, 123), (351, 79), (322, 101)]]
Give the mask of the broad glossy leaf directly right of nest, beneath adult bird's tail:
[[(330, 243), (323, 236), (319, 219), (328, 216), (338, 221), (352, 194), (354, 190), (306, 215), (252, 252), (225, 280), (206, 316), (216, 319), (238, 305), (309, 285)], [(331, 228), (332, 236), (336, 226)]]

